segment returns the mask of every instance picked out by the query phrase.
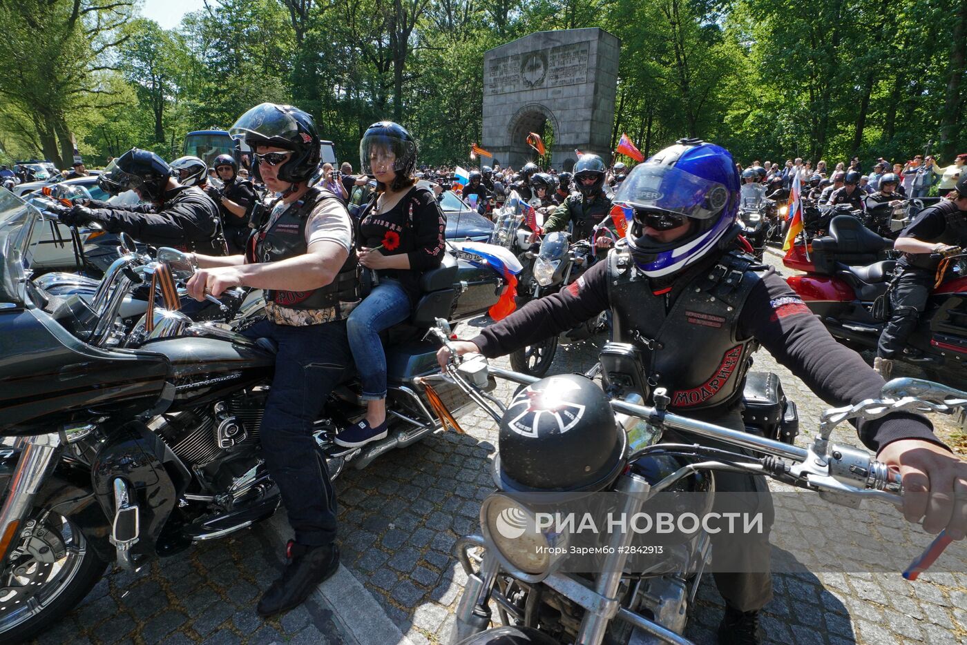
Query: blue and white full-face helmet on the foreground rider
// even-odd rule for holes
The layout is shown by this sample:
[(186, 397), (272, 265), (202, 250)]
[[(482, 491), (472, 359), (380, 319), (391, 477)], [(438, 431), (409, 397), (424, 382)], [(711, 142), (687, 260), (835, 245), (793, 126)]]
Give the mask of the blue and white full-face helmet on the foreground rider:
[[(613, 201), (633, 210), (627, 240), (638, 268), (649, 277), (668, 276), (716, 252), (734, 233), (739, 183), (732, 154), (698, 139), (680, 139), (636, 165)], [(689, 218), (694, 225), (689, 235), (661, 242), (644, 235), (647, 215)]]

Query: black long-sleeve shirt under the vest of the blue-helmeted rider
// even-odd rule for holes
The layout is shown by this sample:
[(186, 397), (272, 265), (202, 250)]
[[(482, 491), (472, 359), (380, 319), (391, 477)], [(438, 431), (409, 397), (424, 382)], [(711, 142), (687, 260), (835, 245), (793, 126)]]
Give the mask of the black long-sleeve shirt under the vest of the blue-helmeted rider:
[[(484, 356), (496, 357), (535, 345), (609, 308), (605, 262), (589, 268), (568, 289), (527, 303), (472, 339)], [(642, 281), (642, 297), (653, 295)], [(681, 293), (683, 285), (673, 290)], [(673, 301), (673, 300), (672, 300)], [(671, 301), (667, 306), (671, 305)], [(739, 336), (755, 338), (827, 404), (855, 405), (879, 398), (884, 381), (858, 353), (835, 341), (806, 304), (772, 268), (752, 289), (740, 312)], [(683, 357), (688, 360), (687, 357)], [(688, 412), (682, 412), (688, 415)], [(905, 412), (859, 424), (860, 439), (880, 450), (897, 439), (918, 438), (943, 445), (922, 416)]]

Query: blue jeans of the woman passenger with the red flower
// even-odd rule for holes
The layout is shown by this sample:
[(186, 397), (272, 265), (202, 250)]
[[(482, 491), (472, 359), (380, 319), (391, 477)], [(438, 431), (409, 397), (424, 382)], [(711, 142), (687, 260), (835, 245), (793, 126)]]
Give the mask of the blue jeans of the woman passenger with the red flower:
[(386, 352), (379, 332), (409, 317), (409, 296), (396, 280), (386, 278), (349, 314), (346, 333), (363, 382), (363, 401), (386, 398)]

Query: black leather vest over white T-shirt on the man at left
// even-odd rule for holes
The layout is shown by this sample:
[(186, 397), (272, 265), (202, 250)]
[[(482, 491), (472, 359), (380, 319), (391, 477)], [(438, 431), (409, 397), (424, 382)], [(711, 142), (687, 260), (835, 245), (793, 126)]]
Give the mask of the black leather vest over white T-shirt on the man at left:
[[(267, 209), (270, 213), (268, 220), (252, 233), (246, 246), (248, 261), (250, 263), (278, 262), (305, 255), (308, 252), (306, 243), (308, 216), (321, 201), (326, 199), (338, 200), (337, 196), (328, 190), (309, 188), (303, 198), (290, 204), (271, 226), (269, 221), (271, 221), (273, 209)], [(265, 297), (280, 307), (290, 309), (326, 309), (336, 306), (339, 302), (355, 302), (359, 299), (357, 267), (356, 254), (350, 252), (336, 278), (325, 287), (308, 292), (271, 290), (265, 293)]]

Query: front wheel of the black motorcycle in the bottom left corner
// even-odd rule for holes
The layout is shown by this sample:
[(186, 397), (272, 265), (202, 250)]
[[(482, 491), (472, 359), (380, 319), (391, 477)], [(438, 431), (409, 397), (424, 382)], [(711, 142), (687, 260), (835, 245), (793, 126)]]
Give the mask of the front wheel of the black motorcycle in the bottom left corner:
[[(44, 515), (37, 509), (28, 521)], [(28, 641), (52, 627), (87, 596), (107, 566), (70, 519), (53, 513), (28, 549), (3, 568), (0, 641), (5, 643)]]

